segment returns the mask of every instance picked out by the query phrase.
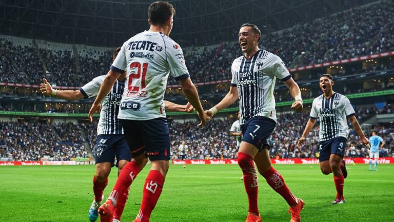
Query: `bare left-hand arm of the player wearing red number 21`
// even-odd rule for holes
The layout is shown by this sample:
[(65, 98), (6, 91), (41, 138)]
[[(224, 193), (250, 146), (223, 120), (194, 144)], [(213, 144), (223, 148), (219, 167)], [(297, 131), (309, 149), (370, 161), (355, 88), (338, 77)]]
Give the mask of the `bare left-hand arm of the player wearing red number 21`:
[(113, 70), (109, 70), (108, 74), (105, 76), (105, 79), (100, 87), (100, 91), (97, 94), (96, 99), (94, 100), (92, 107), (90, 108), (89, 111), (89, 120), (90, 122), (93, 122), (93, 114), (96, 110), (100, 110), (101, 108), (101, 101), (105, 98), (105, 96), (111, 91), (111, 88), (113, 84), (116, 82), (116, 79), (121, 75), (122, 73), (115, 72)]

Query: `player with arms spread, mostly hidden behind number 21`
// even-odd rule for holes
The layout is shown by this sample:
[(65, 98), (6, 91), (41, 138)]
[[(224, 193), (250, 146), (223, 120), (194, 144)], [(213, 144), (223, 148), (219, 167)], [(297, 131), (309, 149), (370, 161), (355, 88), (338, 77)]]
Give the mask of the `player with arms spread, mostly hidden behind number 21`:
[[(121, 47), (113, 51), (112, 61), (116, 58), (120, 50)], [(44, 95), (55, 96), (67, 100), (89, 98), (97, 95), (104, 78), (105, 75), (97, 76), (78, 90), (55, 90), (48, 83), (47, 79), (44, 78), (40, 86), (40, 91)], [(122, 168), (131, 160), (130, 149), (127, 146), (123, 128), (119, 123), (119, 119), (117, 119), (119, 105), (125, 86), (125, 79), (126, 74), (122, 73), (122, 75), (116, 79), (116, 83), (111, 88), (110, 93), (106, 95), (101, 103), (102, 109), (100, 111), (99, 124), (97, 125), (97, 144), (96, 150), (94, 151), (96, 173), (93, 176), (94, 199), (89, 209), (90, 221), (95, 221), (97, 217), (99, 217), (97, 209), (101, 205), (103, 192), (108, 184), (108, 176), (111, 172), (111, 167), (114, 165), (115, 157), (118, 175)], [(165, 109), (178, 112), (193, 111), (193, 107), (190, 106), (190, 104), (182, 106), (168, 101), (165, 101)], [(119, 201), (119, 204), (114, 209), (113, 221), (119, 221), (122, 217), (127, 195), (122, 196), (122, 198), (123, 199)]]

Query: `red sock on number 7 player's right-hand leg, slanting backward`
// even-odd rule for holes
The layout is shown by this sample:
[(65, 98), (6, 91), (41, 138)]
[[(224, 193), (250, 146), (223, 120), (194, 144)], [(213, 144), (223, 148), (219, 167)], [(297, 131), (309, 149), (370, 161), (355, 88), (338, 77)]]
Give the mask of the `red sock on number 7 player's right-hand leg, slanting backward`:
[(286, 186), (282, 175), (277, 170), (275, 170), (275, 168), (269, 168), (266, 172), (262, 173), (262, 175), (267, 180), (269, 186), (271, 186), (274, 191), (279, 193), (286, 200), (288, 205), (291, 206), (297, 204), (297, 197), (291, 193), (289, 188)]

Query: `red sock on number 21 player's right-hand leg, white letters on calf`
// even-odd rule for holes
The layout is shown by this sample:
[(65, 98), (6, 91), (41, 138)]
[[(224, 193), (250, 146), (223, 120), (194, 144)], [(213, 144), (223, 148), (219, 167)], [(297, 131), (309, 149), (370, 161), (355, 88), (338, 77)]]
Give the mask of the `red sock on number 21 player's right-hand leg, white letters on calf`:
[(162, 193), (163, 185), (164, 176), (157, 170), (149, 171), (144, 184), (140, 213), (137, 215), (142, 222), (149, 221), (150, 214)]

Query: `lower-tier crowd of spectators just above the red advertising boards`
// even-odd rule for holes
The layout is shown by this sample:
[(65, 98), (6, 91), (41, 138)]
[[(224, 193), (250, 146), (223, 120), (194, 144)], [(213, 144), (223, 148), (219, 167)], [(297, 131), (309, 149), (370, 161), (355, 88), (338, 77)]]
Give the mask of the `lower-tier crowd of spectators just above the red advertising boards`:
[[(376, 107), (356, 110), (358, 120), (363, 123), (375, 114), (393, 113), (392, 105), (381, 109)], [(301, 136), (309, 113), (285, 113), (278, 115), (277, 127), (267, 139), (271, 158), (315, 158), (319, 147), (319, 125), (315, 126), (300, 149), (296, 146)], [(169, 121), (172, 158), (180, 158), (178, 150), (182, 141), (188, 145), (187, 157), (204, 158), (237, 158), (237, 143), (230, 136), (230, 127), (234, 119), (213, 118), (204, 127), (198, 128), (198, 121), (185, 123)], [(73, 157), (87, 157), (85, 142), (94, 152), (96, 144), (97, 120), (93, 123), (80, 122), (46, 124), (38, 122), (0, 122), (0, 157), (14, 160), (71, 160)], [(349, 124), (350, 126), (350, 124)], [(367, 137), (370, 131), (366, 131)], [(394, 148), (394, 130), (392, 126), (383, 125), (373, 130), (385, 139), (385, 149), (381, 156), (391, 156)], [(83, 136), (85, 135), (85, 136)], [(346, 155), (350, 148), (356, 147), (357, 157), (367, 156), (357, 133), (350, 127)]]

